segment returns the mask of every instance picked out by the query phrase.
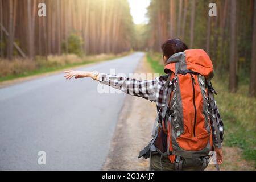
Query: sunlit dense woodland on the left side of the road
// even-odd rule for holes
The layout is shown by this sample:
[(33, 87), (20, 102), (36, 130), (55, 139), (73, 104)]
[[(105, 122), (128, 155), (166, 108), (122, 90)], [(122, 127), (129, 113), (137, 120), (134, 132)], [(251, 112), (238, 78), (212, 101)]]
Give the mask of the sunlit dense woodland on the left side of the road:
[[(38, 16), (41, 2), (46, 4), (46, 17)], [(86, 54), (119, 53), (131, 47), (133, 21), (127, 1), (1, 0), (0, 12), (1, 56), (10, 60), (14, 54), (69, 53), (72, 40), (81, 41)]]

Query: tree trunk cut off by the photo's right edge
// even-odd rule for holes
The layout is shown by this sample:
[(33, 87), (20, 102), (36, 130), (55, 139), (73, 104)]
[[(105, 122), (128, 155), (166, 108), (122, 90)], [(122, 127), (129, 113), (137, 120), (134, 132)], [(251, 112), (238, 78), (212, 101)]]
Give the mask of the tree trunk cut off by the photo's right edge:
[(256, 0), (254, 0), (253, 42), (251, 48), (251, 76), (249, 95), (255, 97), (256, 90)]

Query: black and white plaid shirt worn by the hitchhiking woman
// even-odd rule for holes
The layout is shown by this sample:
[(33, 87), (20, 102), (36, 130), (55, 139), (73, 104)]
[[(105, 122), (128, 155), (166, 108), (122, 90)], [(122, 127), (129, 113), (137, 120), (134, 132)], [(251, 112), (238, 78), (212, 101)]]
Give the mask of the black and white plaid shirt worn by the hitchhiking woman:
[[(112, 88), (121, 90), (123, 93), (130, 94), (131, 96), (138, 96), (156, 102), (158, 118), (160, 121), (162, 121), (162, 118), (164, 117), (164, 111), (161, 108), (166, 104), (167, 93), (168, 89), (170, 88), (170, 85), (168, 85), (166, 89), (163, 90), (167, 77), (168, 75), (156, 77), (154, 80), (137, 80), (129, 77), (100, 73), (99, 82), (101, 84), (105, 84), (111, 86)], [(222, 142), (224, 138), (224, 125), (220, 117), (216, 102), (214, 104), (213, 113), (216, 118), (218, 130), (220, 132), (220, 139)], [(214, 145), (217, 146), (216, 130), (214, 129), (212, 121), (210, 122), (214, 131)]]

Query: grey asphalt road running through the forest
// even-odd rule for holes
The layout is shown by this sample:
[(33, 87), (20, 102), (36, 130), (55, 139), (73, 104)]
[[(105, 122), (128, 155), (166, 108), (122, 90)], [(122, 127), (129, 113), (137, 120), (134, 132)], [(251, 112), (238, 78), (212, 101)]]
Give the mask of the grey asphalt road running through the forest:
[[(80, 70), (133, 73), (137, 52)], [(125, 94), (58, 73), (0, 89), (0, 170), (100, 170)], [(38, 152), (46, 164), (38, 164)]]

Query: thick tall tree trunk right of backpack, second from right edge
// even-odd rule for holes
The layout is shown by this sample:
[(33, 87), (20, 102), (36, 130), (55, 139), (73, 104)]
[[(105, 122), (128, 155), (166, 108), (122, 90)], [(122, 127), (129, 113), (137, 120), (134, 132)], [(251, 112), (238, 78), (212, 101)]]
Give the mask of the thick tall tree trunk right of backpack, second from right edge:
[(236, 1), (230, 1), (230, 56), (229, 56), (229, 90), (237, 90), (237, 59), (236, 59)]

